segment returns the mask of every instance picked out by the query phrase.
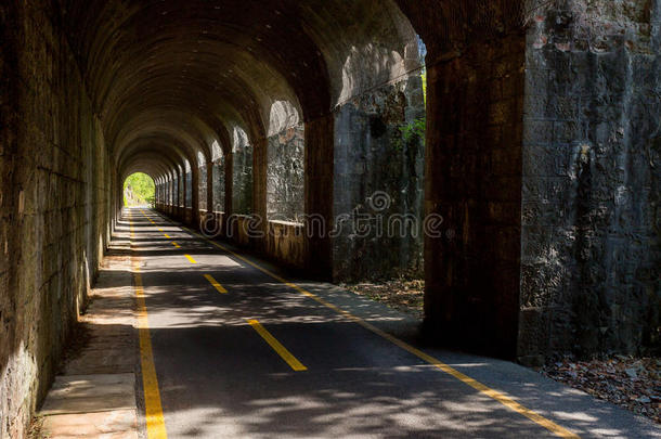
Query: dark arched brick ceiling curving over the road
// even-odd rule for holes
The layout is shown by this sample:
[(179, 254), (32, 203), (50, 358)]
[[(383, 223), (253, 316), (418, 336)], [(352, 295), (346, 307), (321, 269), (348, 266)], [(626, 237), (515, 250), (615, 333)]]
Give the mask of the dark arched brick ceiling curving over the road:
[(120, 172), (158, 150), (169, 157), (161, 166), (195, 166), (216, 141), (228, 152), (234, 127), (252, 141), (267, 135), (278, 101), (313, 120), (419, 66), (415, 33), (392, 0), (61, 3)]

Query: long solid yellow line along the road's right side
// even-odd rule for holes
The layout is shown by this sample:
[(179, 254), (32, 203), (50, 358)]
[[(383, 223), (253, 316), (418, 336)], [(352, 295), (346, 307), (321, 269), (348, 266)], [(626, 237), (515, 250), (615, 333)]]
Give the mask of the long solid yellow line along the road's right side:
[(319, 304), (330, 308), (332, 310), (334, 310), (335, 312), (337, 312), (338, 314), (341, 314), (344, 317), (346, 317), (347, 319), (358, 323), (359, 325), (363, 326), (364, 328), (373, 332), (374, 334), (377, 334), (384, 338), (386, 338), (387, 340), (391, 341), (392, 344), (399, 346), (400, 348), (409, 351), (410, 353), (414, 354), (415, 357), (419, 358), (420, 360), (424, 360), (426, 362), (428, 362), (429, 364), (436, 366), (437, 369), (443, 371), (444, 373), (455, 377), (456, 379), (461, 380), (462, 383), (472, 387), (474, 389), (478, 390), (479, 392), (498, 401), (501, 404), (505, 405), (506, 408), (528, 417), (530, 421), (534, 422), (535, 424), (546, 428), (547, 430), (549, 430), (550, 432), (553, 432), (554, 435), (561, 437), (561, 438), (579, 438), (579, 435), (576, 435), (575, 432), (572, 432), (570, 430), (568, 430), (565, 427), (561, 427), (560, 425), (554, 423), (550, 419), (545, 418), (544, 416), (542, 416), (541, 414), (521, 405), (520, 403), (518, 403), (517, 401), (515, 401), (514, 399), (507, 397), (505, 393), (502, 393), (497, 390), (494, 390), (485, 385), (483, 385), (482, 383), (469, 377), (468, 375), (465, 375), (463, 373), (461, 373), (459, 371), (457, 371), (456, 369), (443, 363), (442, 361), (423, 352), (422, 350), (409, 345), (407, 343), (400, 340), (399, 338), (385, 333), (384, 331), (379, 330), (378, 327), (372, 325), (371, 323), (365, 322), (364, 320), (362, 320), (361, 318), (358, 318), (353, 314), (351, 314), (348, 311), (345, 311), (341, 308), (336, 307), (333, 304), (327, 302), (326, 300), (322, 299), (321, 297), (303, 289), (302, 287), (278, 276), (277, 274), (271, 272), (270, 270), (267, 270), (265, 268), (262, 268), (260, 266), (258, 266), (257, 263), (252, 262), (251, 260), (238, 255), (235, 251), (232, 251), (231, 249), (224, 247), (223, 245), (220, 245), (219, 243), (211, 241), (209, 238), (207, 238), (206, 236), (203, 236), (198, 233), (193, 232), (192, 230), (181, 227), (181, 229), (185, 230), (186, 232), (189, 232), (192, 235), (195, 235), (202, 240), (207, 241), (208, 243), (210, 243), (211, 245), (215, 245), (216, 247), (220, 248), (223, 251), (226, 251), (231, 255), (233, 255), (234, 257), (236, 257), (237, 259), (241, 259), (242, 261), (248, 263), (249, 266), (258, 269), (259, 271), (261, 271), (262, 273), (265, 273), (268, 275), (270, 275), (271, 277), (275, 279), (276, 281), (296, 289), (297, 292), (299, 292), (300, 294), (302, 294), (303, 296), (307, 296), (315, 301), (317, 301)]

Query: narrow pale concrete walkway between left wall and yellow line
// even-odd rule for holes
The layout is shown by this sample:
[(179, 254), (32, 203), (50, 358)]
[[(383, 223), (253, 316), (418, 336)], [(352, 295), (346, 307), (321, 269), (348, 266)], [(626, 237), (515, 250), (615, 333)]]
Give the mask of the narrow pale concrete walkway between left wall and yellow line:
[[(85, 348), (55, 378), (40, 412), (50, 438), (138, 438), (130, 243), (116, 240), (80, 320)], [(115, 255), (125, 254), (125, 256)]]

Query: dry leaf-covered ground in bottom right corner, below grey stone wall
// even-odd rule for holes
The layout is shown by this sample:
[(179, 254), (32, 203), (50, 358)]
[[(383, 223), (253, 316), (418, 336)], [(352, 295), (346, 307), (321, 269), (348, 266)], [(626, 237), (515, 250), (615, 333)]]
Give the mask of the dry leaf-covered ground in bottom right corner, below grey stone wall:
[(661, 359), (614, 356), (547, 364), (543, 375), (661, 424)]

